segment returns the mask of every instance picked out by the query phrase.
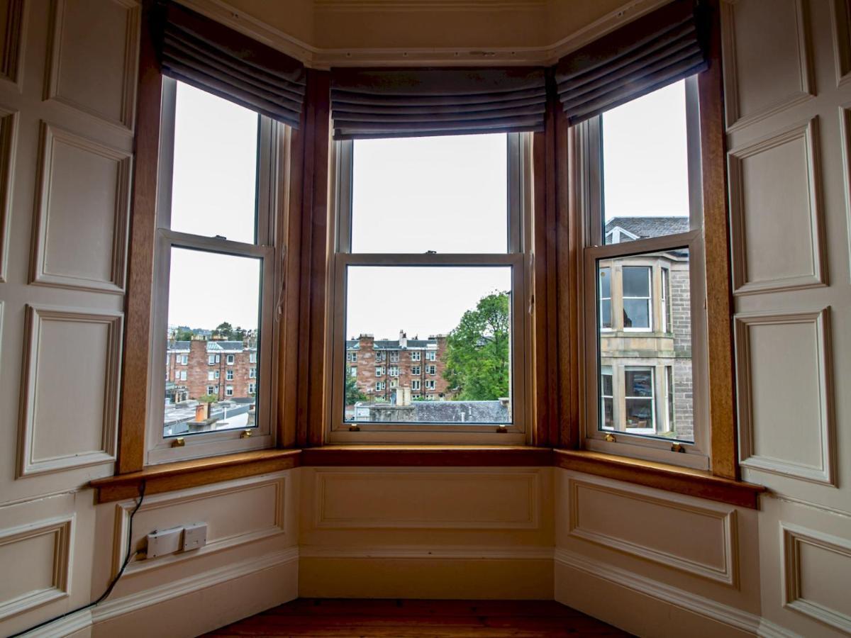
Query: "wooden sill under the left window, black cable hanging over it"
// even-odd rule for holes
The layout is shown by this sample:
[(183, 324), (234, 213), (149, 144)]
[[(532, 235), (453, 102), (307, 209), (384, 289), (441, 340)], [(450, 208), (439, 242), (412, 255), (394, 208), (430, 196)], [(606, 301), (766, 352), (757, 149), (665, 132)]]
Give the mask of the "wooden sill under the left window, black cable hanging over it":
[(259, 450), (151, 465), (138, 472), (96, 479), (89, 485), (97, 491), (98, 503), (108, 503), (134, 498), (139, 494), (142, 481), (145, 481), (146, 496), (174, 492), (186, 487), (289, 470), (298, 467), (300, 454), (301, 450)]

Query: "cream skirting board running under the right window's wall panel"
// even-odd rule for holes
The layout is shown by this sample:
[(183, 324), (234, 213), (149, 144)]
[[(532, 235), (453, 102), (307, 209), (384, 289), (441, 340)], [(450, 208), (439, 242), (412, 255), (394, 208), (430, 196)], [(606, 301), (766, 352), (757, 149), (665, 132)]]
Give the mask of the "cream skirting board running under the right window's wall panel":
[(568, 550), (555, 552), (554, 591), (563, 605), (635, 635), (795, 636), (757, 614)]

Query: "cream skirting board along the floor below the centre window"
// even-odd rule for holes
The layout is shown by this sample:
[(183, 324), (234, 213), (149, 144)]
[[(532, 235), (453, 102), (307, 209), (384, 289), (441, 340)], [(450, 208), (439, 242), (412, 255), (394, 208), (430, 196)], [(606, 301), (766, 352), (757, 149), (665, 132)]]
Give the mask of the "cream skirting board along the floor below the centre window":
[(299, 595), (552, 600), (552, 550), (302, 547)]

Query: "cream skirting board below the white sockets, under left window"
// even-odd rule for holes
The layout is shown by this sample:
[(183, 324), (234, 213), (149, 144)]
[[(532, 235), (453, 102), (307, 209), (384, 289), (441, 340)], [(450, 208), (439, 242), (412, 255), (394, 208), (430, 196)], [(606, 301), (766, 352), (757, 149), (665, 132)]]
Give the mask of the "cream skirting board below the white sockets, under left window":
[(298, 597), (298, 548), (250, 558), (61, 618), (27, 638), (191, 636)]

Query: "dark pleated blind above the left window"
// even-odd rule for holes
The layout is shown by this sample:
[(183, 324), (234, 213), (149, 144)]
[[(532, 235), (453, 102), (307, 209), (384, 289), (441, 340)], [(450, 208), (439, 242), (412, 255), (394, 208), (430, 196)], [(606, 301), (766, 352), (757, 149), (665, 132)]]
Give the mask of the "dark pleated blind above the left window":
[(277, 49), (180, 4), (157, 8), (163, 73), (298, 127), (305, 67)]

